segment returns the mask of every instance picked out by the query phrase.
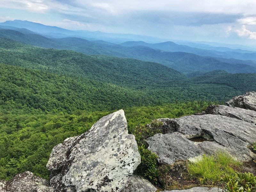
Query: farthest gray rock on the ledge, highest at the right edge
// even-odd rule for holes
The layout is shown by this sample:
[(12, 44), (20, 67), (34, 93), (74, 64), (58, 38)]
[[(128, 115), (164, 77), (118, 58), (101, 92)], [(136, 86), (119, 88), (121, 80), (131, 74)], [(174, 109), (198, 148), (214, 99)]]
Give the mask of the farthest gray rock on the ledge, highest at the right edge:
[(226, 104), (229, 107), (239, 107), (256, 111), (256, 92), (247, 92), (245, 95), (233, 97)]

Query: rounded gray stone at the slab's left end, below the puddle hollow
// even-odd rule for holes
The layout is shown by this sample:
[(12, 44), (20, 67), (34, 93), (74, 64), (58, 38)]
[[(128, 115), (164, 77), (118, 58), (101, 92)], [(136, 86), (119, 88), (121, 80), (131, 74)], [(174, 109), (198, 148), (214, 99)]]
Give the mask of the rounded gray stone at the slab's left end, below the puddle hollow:
[(173, 164), (176, 160), (199, 156), (202, 151), (179, 132), (156, 134), (147, 139), (148, 150), (158, 155), (161, 164)]

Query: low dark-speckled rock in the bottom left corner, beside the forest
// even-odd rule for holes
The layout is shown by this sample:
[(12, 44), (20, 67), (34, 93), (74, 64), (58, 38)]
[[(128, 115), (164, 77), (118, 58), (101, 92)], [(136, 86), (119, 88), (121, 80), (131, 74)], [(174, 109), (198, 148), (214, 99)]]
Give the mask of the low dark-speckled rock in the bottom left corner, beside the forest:
[(41, 192), (37, 190), (38, 186), (44, 186), (44, 192), (51, 192), (51, 187), (47, 180), (27, 171), (17, 174), (12, 180), (8, 181), (4, 190), (7, 192)]

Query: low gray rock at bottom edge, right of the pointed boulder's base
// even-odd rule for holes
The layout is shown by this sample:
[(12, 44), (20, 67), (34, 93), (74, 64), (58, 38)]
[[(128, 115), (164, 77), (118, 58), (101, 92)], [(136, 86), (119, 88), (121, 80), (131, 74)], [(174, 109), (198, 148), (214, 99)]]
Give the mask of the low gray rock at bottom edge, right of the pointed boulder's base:
[(122, 192), (155, 192), (156, 188), (149, 183), (147, 180), (137, 176), (132, 175), (129, 177), (125, 188)]

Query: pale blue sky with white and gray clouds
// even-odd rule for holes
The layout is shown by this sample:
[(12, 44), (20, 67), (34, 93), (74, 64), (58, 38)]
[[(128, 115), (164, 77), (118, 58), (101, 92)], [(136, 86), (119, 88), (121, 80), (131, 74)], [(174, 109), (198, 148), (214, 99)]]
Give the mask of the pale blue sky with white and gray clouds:
[(256, 0), (0, 0), (0, 22), (256, 44)]

